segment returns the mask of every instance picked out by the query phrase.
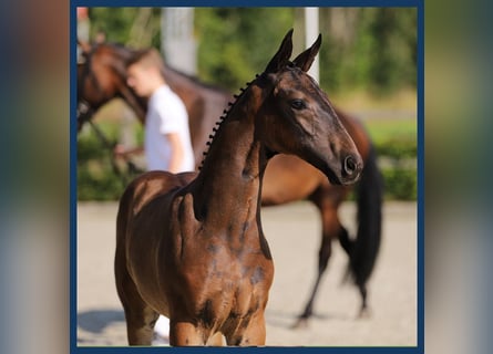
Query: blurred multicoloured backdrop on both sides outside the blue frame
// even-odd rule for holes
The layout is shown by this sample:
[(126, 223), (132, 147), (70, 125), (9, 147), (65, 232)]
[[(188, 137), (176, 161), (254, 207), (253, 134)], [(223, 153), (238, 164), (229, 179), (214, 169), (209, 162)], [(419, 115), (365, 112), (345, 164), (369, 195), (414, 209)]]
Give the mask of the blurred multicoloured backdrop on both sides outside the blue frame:
[[(490, 353), (491, 3), (414, 3), (425, 32), (425, 353)], [(68, 353), (75, 9), (20, 0), (0, 10), (1, 348)]]

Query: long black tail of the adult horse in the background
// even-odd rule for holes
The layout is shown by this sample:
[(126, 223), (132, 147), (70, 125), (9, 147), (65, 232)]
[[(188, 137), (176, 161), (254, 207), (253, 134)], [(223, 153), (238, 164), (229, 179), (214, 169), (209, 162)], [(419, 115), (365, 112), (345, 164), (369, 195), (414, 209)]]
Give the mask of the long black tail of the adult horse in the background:
[(383, 179), (377, 166), (376, 150), (371, 146), (356, 189), (358, 231), (349, 254), (348, 273), (359, 287), (364, 287), (370, 278), (379, 253), (382, 195)]

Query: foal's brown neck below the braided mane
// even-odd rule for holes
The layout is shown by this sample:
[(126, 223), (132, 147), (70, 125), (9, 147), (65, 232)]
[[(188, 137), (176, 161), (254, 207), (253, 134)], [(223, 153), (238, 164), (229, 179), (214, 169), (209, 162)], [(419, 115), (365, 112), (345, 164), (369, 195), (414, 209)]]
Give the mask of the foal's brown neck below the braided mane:
[(264, 145), (255, 129), (260, 93), (250, 85), (217, 129), (194, 183), (199, 218), (232, 225), (235, 220), (251, 220), (258, 212), (267, 164)]

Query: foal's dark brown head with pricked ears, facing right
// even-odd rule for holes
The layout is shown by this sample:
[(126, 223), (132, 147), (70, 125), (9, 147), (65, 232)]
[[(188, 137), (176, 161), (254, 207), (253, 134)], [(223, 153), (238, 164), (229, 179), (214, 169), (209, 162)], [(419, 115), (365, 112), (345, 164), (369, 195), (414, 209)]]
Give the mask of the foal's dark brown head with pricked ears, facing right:
[(267, 95), (260, 134), (269, 150), (299, 156), (333, 184), (351, 184), (361, 171), (361, 156), (327, 95), (307, 74), (321, 37), (291, 62), (291, 34), (292, 30), (256, 82)]

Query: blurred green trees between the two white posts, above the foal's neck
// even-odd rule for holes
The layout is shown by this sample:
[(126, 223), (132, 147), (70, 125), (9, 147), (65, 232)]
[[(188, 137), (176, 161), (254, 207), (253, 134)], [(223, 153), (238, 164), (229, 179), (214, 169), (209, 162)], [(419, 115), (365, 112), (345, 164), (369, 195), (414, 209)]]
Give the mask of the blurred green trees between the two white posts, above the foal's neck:
[(199, 76), (237, 91), (265, 69), (292, 22), (289, 8), (196, 9)]

